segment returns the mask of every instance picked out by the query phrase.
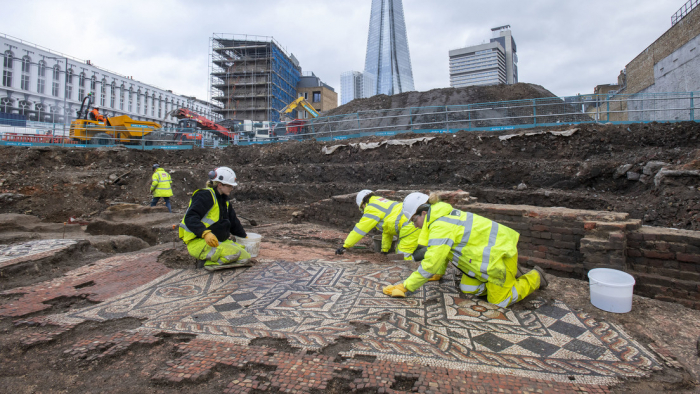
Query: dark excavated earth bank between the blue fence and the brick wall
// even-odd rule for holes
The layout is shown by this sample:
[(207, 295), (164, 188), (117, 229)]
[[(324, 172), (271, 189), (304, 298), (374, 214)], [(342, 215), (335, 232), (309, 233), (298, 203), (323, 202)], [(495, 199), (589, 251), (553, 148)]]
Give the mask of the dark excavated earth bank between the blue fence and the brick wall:
[[(412, 146), (345, 146), (330, 155), (322, 148), (331, 144), (315, 141), (190, 151), (3, 147), (0, 213), (89, 221), (116, 203), (145, 205), (150, 168), (159, 163), (173, 178), (176, 212), (204, 186), (209, 170), (232, 167), (239, 180), (237, 212), (260, 224), (286, 221), (304, 204), (368, 188), (462, 189), (481, 202), (614, 210), (645, 225), (700, 228), (698, 123), (527, 132), (566, 129), (577, 131), (505, 140), (499, 135), (512, 131), (459, 132), (430, 135), (435, 139)], [(359, 141), (343, 141), (351, 142)], [(676, 175), (660, 177), (661, 168)], [(152, 235), (146, 238), (153, 242)]]

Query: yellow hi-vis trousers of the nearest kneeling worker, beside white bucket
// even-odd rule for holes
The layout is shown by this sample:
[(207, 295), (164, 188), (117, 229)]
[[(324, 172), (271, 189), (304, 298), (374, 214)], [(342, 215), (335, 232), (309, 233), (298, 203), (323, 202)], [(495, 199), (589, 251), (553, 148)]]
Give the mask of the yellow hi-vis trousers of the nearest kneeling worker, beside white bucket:
[(540, 288), (540, 274), (532, 270), (519, 278), (515, 278), (518, 272), (518, 255), (506, 259), (506, 281), (503, 286), (490, 282), (482, 282), (479, 279), (462, 275), (459, 289), (465, 294), (481, 296), (486, 294), (488, 302), (506, 308), (532, 294)]

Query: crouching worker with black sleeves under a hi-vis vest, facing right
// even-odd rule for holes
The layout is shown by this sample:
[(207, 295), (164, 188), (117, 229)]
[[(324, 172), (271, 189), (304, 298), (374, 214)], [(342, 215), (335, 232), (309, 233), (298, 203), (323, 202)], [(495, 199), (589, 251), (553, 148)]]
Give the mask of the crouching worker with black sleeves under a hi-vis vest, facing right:
[(180, 238), (187, 245), (198, 266), (215, 271), (252, 265), (245, 248), (231, 240), (230, 235), (247, 237), (236, 212), (229, 203), (229, 195), (237, 186), (236, 173), (228, 167), (219, 167), (209, 173), (204, 189), (192, 193), (190, 205), (180, 222)]

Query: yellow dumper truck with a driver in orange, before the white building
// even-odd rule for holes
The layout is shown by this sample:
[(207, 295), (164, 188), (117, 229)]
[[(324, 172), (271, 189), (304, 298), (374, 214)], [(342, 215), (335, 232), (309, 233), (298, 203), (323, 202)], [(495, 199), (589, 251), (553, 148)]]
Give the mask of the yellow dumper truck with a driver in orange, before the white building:
[(129, 115), (104, 117), (104, 120), (88, 119), (91, 106), (92, 95), (87, 95), (77, 111), (77, 119), (70, 124), (70, 138), (76, 142), (93, 145), (140, 145), (143, 140), (147, 145), (151, 145), (161, 139), (173, 139), (171, 135), (159, 132), (159, 123), (134, 120)]

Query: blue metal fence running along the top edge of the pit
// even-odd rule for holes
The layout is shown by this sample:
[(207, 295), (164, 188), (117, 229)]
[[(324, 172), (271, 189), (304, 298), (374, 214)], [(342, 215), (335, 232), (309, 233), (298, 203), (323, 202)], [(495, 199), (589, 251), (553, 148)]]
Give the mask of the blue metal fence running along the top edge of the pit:
[[(0, 124), (0, 144), (36, 144), (98, 147), (124, 145), (135, 149), (191, 149), (229, 145), (263, 144), (290, 140), (343, 140), (400, 133), (454, 133), (457, 131), (515, 130), (538, 126), (585, 123), (640, 123), (695, 121), (700, 92), (634, 95), (593, 94), (500, 101), (469, 105), (394, 108), (327, 116), (285, 129), (271, 122), (263, 135), (242, 133), (236, 139), (221, 139), (208, 131), (159, 129), (148, 138), (131, 140), (105, 137), (72, 139), (63, 124), (26, 122), (26, 127)], [(20, 130), (21, 129), (21, 130)], [(33, 135), (33, 136), (32, 136)], [(21, 141), (17, 139), (22, 139)]]

